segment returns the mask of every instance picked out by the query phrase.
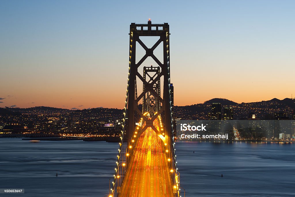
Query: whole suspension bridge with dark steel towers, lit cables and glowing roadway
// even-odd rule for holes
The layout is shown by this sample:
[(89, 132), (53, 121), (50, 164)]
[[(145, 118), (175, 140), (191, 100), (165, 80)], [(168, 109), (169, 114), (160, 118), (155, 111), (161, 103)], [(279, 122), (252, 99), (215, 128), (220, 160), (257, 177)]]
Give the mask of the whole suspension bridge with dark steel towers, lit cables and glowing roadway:
[[(173, 137), (169, 25), (152, 24), (150, 19), (148, 24), (131, 23), (129, 36), (122, 135), (109, 197), (180, 197)], [(157, 37), (158, 41), (148, 48), (141, 40), (146, 36)], [(145, 51), (143, 57), (137, 57), (138, 62), (137, 46)], [(158, 46), (163, 46), (160, 59), (154, 53)], [(140, 70), (148, 57), (158, 65)]]

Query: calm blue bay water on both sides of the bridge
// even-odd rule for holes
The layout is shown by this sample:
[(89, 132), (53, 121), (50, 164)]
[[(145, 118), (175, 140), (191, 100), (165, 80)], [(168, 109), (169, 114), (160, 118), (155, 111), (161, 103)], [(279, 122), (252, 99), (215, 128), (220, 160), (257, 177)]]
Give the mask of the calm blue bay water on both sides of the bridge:
[[(117, 149), (107, 142), (0, 139), (0, 188), (25, 189), (0, 196), (103, 197)], [(178, 142), (176, 149), (187, 197), (294, 196), (294, 143)]]

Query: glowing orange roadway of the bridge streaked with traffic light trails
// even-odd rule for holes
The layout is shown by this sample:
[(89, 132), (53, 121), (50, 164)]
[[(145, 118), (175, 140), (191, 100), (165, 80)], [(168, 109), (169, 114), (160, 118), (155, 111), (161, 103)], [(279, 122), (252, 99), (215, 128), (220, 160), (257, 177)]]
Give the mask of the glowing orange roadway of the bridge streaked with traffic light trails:
[[(154, 121), (159, 128), (158, 121)], [(139, 137), (122, 185), (122, 197), (173, 196), (163, 141), (147, 128)]]

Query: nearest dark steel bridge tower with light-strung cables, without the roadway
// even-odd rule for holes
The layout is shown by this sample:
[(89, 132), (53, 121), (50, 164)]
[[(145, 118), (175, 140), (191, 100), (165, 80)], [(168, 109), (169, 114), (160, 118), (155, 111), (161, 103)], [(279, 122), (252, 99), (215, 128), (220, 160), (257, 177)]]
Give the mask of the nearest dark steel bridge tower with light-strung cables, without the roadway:
[[(170, 33), (168, 23), (152, 24), (135, 24), (130, 25), (130, 43), (129, 43), (129, 71), (127, 79), (126, 100), (124, 107), (124, 118), (122, 125), (121, 142), (119, 143), (116, 168), (114, 172), (114, 180), (110, 184), (110, 196), (120, 196), (122, 185), (124, 185), (124, 177), (127, 174), (127, 166), (132, 156), (130, 147), (136, 146), (137, 138), (148, 127), (151, 127), (155, 133), (164, 137), (164, 143), (167, 145), (168, 165), (171, 169), (170, 178), (173, 185), (179, 184), (179, 176), (176, 167), (176, 155), (174, 148), (173, 123), (172, 123), (172, 106), (171, 106), (171, 90), (170, 90)], [(158, 41), (148, 48), (140, 39), (145, 36), (158, 37)], [(145, 55), (136, 63), (136, 47), (141, 45), (145, 50)], [(158, 46), (163, 46), (163, 64), (155, 56), (154, 50)], [(151, 57), (158, 64), (156, 67), (145, 66), (143, 75), (140, 74), (139, 66)], [(142, 71), (141, 71), (142, 72)], [(154, 74), (150, 74), (150, 73)], [(149, 76), (149, 77), (147, 77)], [(162, 78), (161, 78), (162, 77)], [(137, 92), (137, 82), (140, 80), (143, 84), (142, 92)], [(160, 82), (160, 80), (163, 80)], [(160, 84), (163, 84), (161, 90)], [(161, 96), (161, 92), (163, 95)], [(139, 102), (142, 103), (142, 109), (139, 108)], [(152, 113), (153, 116), (148, 118), (146, 113)], [(159, 132), (153, 125), (156, 119), (162, 120), (163, 129)], [(145, 126), (138, 128), (140, 121), (145, 122)], [(163, 143), (163, 144), (164, 144)], [(175, 187), (175, 186), (174, 186)], [(174, 190), (173, 196), (179, 196), (180, 189)]]

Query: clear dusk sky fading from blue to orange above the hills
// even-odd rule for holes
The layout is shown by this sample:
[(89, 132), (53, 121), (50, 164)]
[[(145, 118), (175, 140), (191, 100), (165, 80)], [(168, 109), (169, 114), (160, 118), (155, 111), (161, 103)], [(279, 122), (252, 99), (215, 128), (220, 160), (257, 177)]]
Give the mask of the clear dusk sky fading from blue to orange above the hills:
[(170, 25), (175, 105), (295, 97), (294, 7), (287, 0), (2, 0), (0, 107), (124, 108), (129, 26), (148, 18)]

